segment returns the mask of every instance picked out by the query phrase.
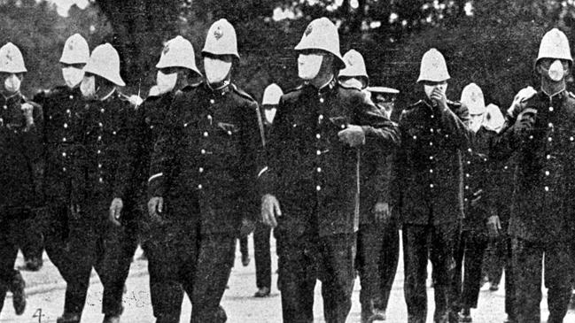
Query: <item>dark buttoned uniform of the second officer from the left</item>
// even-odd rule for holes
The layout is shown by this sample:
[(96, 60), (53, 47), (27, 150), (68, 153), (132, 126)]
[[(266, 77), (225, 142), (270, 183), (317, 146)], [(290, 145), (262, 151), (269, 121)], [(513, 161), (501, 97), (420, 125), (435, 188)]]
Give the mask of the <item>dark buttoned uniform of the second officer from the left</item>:
[(57, 87), (40, 92), (35, 102), (43, 106), (43, 191), (48, 219), (43, 230), (48, 256), (65, 281), (70, 264), (66, 260), (68, 220), (77, 211), (82, 190), (76, 167), (82, 159), (82, 114), (84, 100), (78, 88)]

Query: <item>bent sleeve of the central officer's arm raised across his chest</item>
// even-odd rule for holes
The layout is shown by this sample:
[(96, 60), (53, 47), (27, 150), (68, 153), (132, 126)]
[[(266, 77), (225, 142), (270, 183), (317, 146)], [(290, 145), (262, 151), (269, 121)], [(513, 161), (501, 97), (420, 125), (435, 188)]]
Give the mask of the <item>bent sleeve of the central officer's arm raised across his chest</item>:
[(385, 117), (377, 107), (372, 104), (367, 97), (361, 96), (355, 105), (356, 122), (366, 136), (366, 142), (377, 142), (376, 144), (389, 148), (384, 150), (389, 154), (400, 145), (400, 133), (397, 125), (392, 120)]

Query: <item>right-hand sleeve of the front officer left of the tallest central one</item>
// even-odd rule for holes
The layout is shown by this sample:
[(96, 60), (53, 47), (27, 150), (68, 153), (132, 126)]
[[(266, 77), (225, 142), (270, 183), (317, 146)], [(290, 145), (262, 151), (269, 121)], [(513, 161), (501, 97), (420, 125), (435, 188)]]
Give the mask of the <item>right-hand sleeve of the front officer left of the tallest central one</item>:
[(242, 212), (245, 219), (257, 219), (260, 209), (258, 174), (264, 164), (264, 138), (260, 108), (255, 102), (246, 106), (242, 138), (242, 169), (239, 181), (244, 189)]

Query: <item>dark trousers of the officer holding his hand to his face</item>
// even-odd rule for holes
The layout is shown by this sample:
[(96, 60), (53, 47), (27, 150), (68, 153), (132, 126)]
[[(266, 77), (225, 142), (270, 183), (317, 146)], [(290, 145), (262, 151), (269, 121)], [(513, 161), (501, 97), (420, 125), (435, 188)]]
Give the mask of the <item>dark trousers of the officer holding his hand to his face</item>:
[(424, 323), (427, 317), (427, 262), (431, 259), (434, 279), (434, 322), (447, 322), (454, 296), (451, 281), (455, 268), (454, 248), (459, 225), (403, 226), (404, 293), (408, 322)]

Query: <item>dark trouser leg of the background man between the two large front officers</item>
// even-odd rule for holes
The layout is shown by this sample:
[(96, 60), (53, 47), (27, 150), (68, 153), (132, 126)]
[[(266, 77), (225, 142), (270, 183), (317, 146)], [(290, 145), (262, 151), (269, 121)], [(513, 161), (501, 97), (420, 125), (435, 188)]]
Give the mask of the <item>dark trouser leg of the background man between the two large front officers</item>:
[(253, 231), (253, 254), (255, 258), (255, 285), (271, 288), (271, 252), (269, 239), (271, 228), (258, 222)]

